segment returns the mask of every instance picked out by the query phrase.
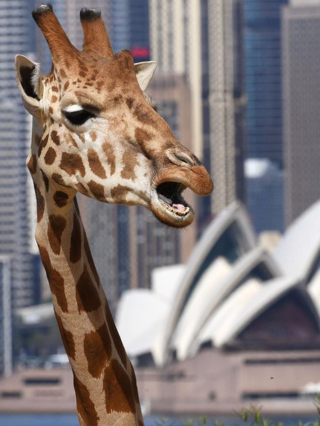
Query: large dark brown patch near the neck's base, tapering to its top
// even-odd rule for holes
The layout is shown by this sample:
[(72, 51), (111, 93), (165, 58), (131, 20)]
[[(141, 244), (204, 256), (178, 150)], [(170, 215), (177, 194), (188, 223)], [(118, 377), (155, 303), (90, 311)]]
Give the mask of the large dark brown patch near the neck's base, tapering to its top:
[(103, 377), (107, 413), (135, 413), (135, 402), (127, 372), (117, 360), (111, 360)]

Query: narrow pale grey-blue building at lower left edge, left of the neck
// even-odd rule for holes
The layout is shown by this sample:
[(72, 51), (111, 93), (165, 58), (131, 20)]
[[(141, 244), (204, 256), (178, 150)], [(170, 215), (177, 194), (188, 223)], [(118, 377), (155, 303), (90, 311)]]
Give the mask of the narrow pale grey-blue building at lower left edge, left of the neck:
[(11, 262), (0, 256), (0, 376), (12, 373)]

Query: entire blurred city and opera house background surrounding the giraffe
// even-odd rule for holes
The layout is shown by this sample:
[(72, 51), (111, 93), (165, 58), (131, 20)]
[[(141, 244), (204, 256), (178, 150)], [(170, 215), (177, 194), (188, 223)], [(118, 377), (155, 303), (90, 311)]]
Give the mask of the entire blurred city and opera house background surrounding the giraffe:
[[(71, 370), (33, 237), (32, 120), (14, 73), (18, 53), (50, 70), (31, 16), (39, 4), (0, 0), (0, 412), (72, 413)], [(228, 414), (255, 401), (270, 413), (314, 413), (320, 0), (52, 4), (77, 48), (79, 11), (93, 7), (115, 52), (158, 62), (148, 93), (215, 184), (209, 197), (187, 195), (196, 220), (183, 231), (139, 207), (78, 198), (144, 411)]]

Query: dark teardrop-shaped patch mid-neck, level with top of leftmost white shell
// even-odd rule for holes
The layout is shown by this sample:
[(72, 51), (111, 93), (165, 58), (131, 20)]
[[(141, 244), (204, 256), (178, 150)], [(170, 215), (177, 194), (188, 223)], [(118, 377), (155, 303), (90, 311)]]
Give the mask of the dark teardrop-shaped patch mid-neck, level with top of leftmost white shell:
[(92, 312), (101, 306), (101, 301), (86, 265), (84, 265), (76, 286), (76, 299), (79, 312)]

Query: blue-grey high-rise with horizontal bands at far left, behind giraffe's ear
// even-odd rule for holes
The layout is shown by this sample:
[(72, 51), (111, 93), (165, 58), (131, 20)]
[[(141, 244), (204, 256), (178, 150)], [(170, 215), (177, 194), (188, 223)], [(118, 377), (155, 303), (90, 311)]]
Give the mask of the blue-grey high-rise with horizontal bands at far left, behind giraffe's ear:
[(12, 258), (13, 307), (38, 298), (34, 287), (31, 211), (26, 167), (31, 140), (31, 116), (16, 85), (14, 57), (35, 50), (33, 1), (0, 1), (0, 254)]

